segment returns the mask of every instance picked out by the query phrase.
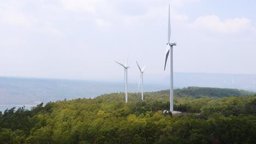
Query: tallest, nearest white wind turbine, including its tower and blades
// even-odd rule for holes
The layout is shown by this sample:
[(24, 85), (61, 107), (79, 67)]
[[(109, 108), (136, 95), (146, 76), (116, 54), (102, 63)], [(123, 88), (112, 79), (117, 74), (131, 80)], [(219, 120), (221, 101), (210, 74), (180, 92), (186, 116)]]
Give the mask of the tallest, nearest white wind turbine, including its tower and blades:
[[(170, 111), (173, 113), (173, 56), (172, 56), (172, 47), (176, 46), (176, 43), (170, 43), (171, 38), (171, 23), (170, 23), (170, 4), (169, 4), (169, 11), (168, 11), (168, 39), (167, 39), (167, 48), (166, 48), (166, 55), (165, 55), (165, 68), (166, 68), (166, 62), (167, 58), (170, 53), (170, 62), (171, 62), (171, 88), (170, 88)], [(170, 52), (171, 51), (171, 52)], [(164, 69), (165, 70), (165, 69)]]

